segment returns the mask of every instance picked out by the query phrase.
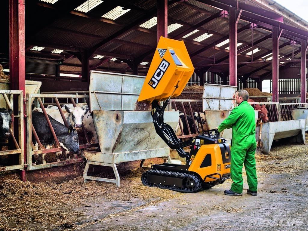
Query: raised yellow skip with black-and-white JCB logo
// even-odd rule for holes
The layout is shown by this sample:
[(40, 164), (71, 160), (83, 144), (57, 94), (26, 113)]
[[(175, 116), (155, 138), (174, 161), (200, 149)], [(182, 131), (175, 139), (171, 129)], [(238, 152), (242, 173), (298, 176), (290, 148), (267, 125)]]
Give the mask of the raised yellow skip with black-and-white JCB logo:
[(138, 101), (152, 103), (180, 95), (193, 71), (184, 42), (161, 36)]

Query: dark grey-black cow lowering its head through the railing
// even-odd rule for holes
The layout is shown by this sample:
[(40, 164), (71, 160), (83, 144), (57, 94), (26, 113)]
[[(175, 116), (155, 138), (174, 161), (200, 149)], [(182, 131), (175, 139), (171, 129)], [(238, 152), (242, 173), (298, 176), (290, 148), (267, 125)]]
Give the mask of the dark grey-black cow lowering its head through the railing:
[[(78, 134), (76, 132), (76, 129), (73, 129), (71, 125), (67, 128), (49, 115), (48, 118), (59, 140), (60, 146), (69, 152), (73, 152), (75, 154), (79, 153)], [(44, 145), (45, 148), (51, 148), (51, 146), (55, 144), (55, 139), (48, 126), (45, 115), (39, 111), (32, 111), (32, 125), (42, 145)], [(32, 136), (32, 142), (37, 150), (38, 144), (34, 136)], [(43, 164), (46, 164), (44, 156), (45, 154), (41, 155), (41, 162)]]

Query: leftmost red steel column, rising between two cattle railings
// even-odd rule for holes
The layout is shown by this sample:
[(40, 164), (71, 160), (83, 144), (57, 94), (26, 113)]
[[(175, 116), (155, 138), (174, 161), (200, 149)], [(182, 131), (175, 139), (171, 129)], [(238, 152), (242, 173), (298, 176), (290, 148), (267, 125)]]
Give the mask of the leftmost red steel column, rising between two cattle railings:
[[(10, 39), (10, 89), (22, 90), (26, 97), (25, 67), (25, 0), (9, 0)], [(16, 102), (16, 100), (14, 100)], [(17, 108), (17, 103), (14, 108)], [(23, 104), (26, 115), (26, 102)], [(18, 126), (14, 126), (18, 127)], [(20, 132), (20, 131), (19, 131)], [(24, 120), (24, 161), (26, 164), (26, 120)], [(25, 170), (20, 171), (22, 181), (26, 181)]]

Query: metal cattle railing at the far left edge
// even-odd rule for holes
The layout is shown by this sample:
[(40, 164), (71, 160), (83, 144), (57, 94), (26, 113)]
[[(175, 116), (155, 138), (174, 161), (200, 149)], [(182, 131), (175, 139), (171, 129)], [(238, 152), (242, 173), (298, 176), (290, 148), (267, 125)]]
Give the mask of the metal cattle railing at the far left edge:
[[(6, 104), (6, 108), (11, 109), (13, 111), (13, 114), (11, 115), (12, 117), (12, 123), (10, 124), (10, 137), (8, 137), (8, 141), (12, 140), (13, 145), (11, 146), (11, 148), (15, 147), (15, 149), (11, 149), (11, 150), (4, 150), (4, 151), (0, 151), (0, 156), (4, 156), (4, 155), (8, 155), (7, 158), (9, 160), (10, 163), (10, 157), (13, 154), (18, 154), (18, 164), (13, 164), (10, 165), (5, 164), (7, 166), (1, 166), (0, 163), (0, 172), (3, 171), (10, 171), (10, 170), (23, 170), (24, 169), (24, 124), (23, 124), (23, 91), (19, 91), (19, 90), (1, 90), (0, 91), (0, 95), (2, 95), (1, 97), (1, 106), (4, 107), (4, 104)], [(15, 98), (14, 95), (17, 95), (17, 97)], [(17, 99), (17, 103), (14, 103), (14, 98)], [(18, 107), (18, 111), (17, 115), (14, 115), (14, 105), (15, 107)], [(16, 109), (16, 108), (15, 108)], [(14, 136), (14, 120), (17, 119), (18, 120), (18, 138), (16, 140), (15, 136)], [(15, 129), (16, 131), (16, 129)], [(8, 149), (10, 149), (10, 145), (9, 142), (2, 142), (1, 143), (1, 150), (2, 147), (8, 147)], [(13, 163), (13, 162), (12, 162)]]

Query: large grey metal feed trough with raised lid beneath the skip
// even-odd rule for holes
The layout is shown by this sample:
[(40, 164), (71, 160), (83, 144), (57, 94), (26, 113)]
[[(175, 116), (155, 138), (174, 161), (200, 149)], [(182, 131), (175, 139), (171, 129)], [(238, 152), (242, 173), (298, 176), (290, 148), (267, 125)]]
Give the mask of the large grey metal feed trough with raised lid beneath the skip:
[[(101, 152), (84, 151), (83, 178), (120, 186), (116, 164), (155, 157), (169, 157), (170, 148), (156, 134), (150, 111), (134, 111), (144, 76), (91, 71), (90, 110)], [(164, 121), (175, 129), (176, 111), (166, 111)], [(115, 179), (88, 176), (91, 164), (112, 167)]]

